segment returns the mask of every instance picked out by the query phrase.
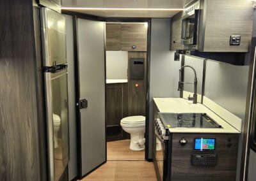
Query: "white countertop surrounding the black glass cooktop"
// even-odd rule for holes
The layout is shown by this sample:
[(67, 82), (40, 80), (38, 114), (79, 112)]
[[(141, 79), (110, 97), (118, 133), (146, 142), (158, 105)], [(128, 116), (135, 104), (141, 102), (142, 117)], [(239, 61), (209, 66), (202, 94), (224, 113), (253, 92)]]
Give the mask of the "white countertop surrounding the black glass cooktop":
[[(216, 113), (212, 112), (206, 106), (197, 103), (193, 104), (192, 101), (188, 101), (183, 98), (154, 98), (154, 102), (159, 112), (170, 113), (206, 113), (215, 120), (222, 128), (169, 128), (171, 133), (241, 133), (235, 127), (228, 124), (229, 121), (221, 119)], [(232, 122), (232, 121), (231, 121)]]

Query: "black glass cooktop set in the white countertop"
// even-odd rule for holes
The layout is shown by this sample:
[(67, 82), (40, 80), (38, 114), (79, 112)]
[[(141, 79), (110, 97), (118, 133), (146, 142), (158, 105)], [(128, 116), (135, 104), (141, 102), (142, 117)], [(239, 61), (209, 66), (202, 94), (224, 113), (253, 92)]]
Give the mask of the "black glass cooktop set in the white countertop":
[(164, 127), (199, 127), (215, 128), (220, 124), (211, 119), (206, 113), (159, 113)]

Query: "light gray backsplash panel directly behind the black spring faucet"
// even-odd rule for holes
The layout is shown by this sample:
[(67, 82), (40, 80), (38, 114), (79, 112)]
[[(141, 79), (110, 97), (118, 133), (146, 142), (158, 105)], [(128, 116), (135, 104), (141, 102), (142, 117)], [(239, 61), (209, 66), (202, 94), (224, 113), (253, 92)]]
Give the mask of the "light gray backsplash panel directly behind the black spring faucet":
[[(203, 70), (204, 70), (204, 59), (193, 56), (185, 56), (185, 65), (192, 66), (196, 70), (197, 75), (197, 94), (202, 94), (202, 82), (203, 82)], [(191, 68), (185, 68), (184, 71), (184, 82), (194, 82), (194, 72)], [(194, 85), (185, 84), (184, 91), (194, 92)], [(193, 95), (191, 95), (193, 96)]]

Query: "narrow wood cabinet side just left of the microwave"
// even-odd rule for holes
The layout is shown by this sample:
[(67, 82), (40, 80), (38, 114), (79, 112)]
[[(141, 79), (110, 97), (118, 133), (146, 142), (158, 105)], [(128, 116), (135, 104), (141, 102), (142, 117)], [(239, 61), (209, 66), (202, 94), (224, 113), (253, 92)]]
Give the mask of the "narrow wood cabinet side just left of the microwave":
[(184, 12), (180, 12), (171, 19), (170, 50), (182, 50), (181, 44), (181, 18)]

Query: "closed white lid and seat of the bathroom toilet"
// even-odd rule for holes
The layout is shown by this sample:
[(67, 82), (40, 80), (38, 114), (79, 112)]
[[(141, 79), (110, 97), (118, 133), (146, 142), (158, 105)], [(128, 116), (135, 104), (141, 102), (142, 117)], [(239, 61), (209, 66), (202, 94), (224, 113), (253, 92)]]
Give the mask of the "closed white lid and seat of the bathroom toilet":
[(121, 120), (121, 126), (124, 127), (145, 127), (145, 116), (130, 116)]

